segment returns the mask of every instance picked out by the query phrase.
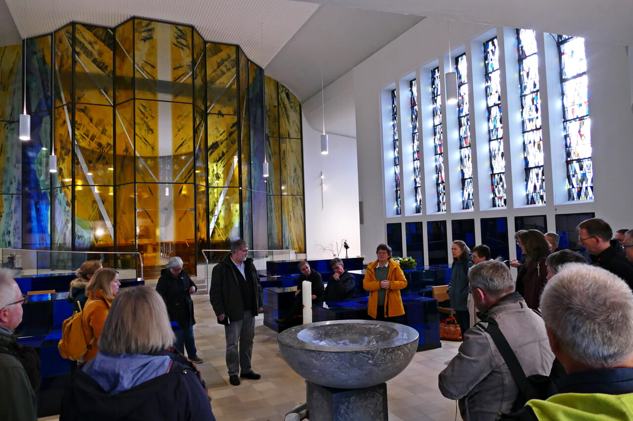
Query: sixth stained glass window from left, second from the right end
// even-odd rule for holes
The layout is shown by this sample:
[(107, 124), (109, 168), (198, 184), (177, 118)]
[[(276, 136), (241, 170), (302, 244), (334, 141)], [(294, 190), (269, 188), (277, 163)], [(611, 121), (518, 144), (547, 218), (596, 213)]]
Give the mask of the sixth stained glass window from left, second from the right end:
[(517, 29), (521, 121), (523, 126), (523, 160), (525, 161), (525, 203), (545, 204), (543, 170), (543, 134), (539, 93), (539, 56), (536, 32)]

